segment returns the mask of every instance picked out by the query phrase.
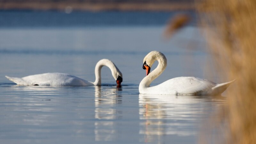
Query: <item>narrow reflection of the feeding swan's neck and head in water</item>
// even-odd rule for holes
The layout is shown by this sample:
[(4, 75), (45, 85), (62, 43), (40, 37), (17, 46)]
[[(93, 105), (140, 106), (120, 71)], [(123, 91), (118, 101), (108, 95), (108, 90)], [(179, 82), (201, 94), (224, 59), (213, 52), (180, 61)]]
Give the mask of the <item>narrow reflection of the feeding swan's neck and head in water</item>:
[(95, 86), (95, 141), (112, 141), (116, 139), (116, 124), (113, 120), (121, 118), (122, 110), (116, 110), (122, 104), (122, 88), (104, 88)]

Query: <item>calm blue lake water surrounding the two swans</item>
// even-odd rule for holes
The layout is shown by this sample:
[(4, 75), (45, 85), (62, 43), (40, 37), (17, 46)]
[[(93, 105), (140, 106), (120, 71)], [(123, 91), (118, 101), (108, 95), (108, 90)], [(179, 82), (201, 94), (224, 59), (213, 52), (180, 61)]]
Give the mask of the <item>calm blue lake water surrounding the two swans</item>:
[[(138, 91), (153, 50), (168, 65), (152, 85), (178, 76), (221, 82), (195, 22), (164, 39), (175, 13), (0, 11), (0, 143), (197, 143), (225, 97)], [(122, 88), (107, 67), (102, 86), (18, 86), (4, 77), (61, 72), (94, 81), (103, 58), (123, 73)]]

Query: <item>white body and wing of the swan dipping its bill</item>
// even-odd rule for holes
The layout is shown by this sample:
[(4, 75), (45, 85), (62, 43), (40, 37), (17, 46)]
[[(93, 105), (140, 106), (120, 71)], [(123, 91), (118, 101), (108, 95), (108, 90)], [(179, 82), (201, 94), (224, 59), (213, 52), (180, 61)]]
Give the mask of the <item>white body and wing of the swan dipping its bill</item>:
[(93, 85), (91, 82), (62, 73), (45, 73), (22, 77), (27, 85), (42, 85), (42, 86), (79, 86)]

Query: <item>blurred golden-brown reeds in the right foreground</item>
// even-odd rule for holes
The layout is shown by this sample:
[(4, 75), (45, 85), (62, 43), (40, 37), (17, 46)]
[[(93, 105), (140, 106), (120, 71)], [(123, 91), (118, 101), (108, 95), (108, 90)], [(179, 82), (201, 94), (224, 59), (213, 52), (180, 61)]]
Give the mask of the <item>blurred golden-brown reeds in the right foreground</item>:
[(222, 139), (201, 143), (256, 143), (256, 1), (206, 0), (198, 11), (223, 82), (236, 79), (218, 122)]

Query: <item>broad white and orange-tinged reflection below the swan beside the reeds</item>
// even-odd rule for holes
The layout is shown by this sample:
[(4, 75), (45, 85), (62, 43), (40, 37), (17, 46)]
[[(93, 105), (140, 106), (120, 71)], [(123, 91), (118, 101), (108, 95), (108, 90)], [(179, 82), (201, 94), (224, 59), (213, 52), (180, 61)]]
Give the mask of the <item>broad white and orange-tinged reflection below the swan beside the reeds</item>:
[(222, 96), (139, 94), (139, 115), (143, 120), (140, 134), (144, 134), (145, 142), (161, 142), (164, 135), (196, 139), (203, 118), (222, 105), (224, 99)]

